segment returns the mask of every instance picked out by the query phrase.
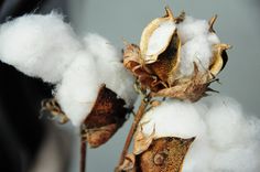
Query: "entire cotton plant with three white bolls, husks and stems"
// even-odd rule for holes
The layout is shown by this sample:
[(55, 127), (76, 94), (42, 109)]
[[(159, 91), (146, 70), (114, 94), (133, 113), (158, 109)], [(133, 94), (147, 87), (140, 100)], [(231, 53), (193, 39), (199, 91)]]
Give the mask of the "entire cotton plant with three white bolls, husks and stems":
[(80, 130), (83, 160), (85, 142), (106, 143), (133, 112), (116, 171), (259, 171), (260, 120), (232, 98), (206, 97), (230, 47), (217, 17), (165, 12), (123, 53), (98, 34), (77, 36), (56, 12), (26, 14), (0, 26), (0, 60), (54, 85), (42, 112)]

